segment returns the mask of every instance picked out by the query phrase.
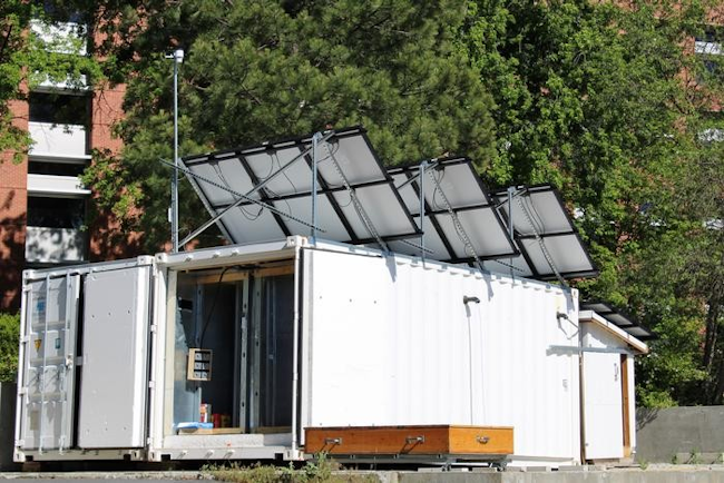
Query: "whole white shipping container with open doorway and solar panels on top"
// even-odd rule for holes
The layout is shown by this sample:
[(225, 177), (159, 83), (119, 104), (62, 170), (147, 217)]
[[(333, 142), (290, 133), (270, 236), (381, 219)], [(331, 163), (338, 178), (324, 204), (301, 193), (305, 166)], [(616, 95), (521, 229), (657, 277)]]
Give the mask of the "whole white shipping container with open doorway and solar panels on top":
[[(306, 427), (436, 424), (581, 461), (570, 288), (297, 236), (27, 270), (21, 324), (16, 461), (296, 460)], [(187, 427), (202, 404), (224, 427)]]

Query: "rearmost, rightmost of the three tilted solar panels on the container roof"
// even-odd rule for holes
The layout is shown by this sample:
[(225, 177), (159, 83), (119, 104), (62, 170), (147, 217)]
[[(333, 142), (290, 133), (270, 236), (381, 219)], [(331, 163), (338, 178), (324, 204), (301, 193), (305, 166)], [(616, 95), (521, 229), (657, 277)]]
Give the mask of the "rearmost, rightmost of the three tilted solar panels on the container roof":
[(512, 223), (513, 238), (521, 253), (507, 263), (491, 262), (488, 268), (538, 279), (584, 278), (598, 275), (560, 195), (548, 185), (516, 188), (512, 217), (508, 191), (492, 195), (506, 224)]

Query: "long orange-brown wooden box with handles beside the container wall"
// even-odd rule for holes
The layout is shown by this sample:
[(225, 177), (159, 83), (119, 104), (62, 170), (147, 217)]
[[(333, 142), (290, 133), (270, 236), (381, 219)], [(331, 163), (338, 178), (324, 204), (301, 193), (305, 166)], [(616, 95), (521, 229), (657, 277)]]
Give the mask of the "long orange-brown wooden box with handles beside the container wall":
[(512, 427), (358, 426), (307, 427), (304, 452), (330, 454), (512, 454)]

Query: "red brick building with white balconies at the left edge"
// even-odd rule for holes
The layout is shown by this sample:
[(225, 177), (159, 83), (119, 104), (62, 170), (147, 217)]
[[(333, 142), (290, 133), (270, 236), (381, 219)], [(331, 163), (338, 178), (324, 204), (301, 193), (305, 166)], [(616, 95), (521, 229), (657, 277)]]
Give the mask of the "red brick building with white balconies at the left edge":
[[(75, 34), (76, 27), (53, 24), (50, 34)], [(49, 34), (49, 27), (37, 33)], [(25, 268), (127, 255), (126, 244), (111, 240), (107, 217), (89, 219), (92, 194), (78, 179), (94, 149), (120, 148), (111, 128), (123, 116), (124, 93), (124, 86), (48, 81), (33, 87), (27, 101), (12, 101), (14, 124), (30, 134), (32, 146), (20, 164), (12, 152), (2, 154), (0, 164), (0, 312), (19, 307)]]

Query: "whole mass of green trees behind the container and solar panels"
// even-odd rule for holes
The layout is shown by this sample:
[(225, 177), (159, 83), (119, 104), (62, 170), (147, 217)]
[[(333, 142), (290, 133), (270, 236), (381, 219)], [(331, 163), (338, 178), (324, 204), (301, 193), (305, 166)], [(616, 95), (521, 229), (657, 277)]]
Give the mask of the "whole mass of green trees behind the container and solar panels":
[[(372, 0), (102, 3), (129, 79), (119, 157), (85, 181), (126, 229), (167, 239), (172, 71), (182, 154), (364, 125), (383, 161), (470, 156), (491, 185), (554, 183), (600, 269), (576, 286), (659, 335), (649, 406), (724, 394), (724, 56), (693, 46), (715, 2)], [(108, 17), (115, 12), (116, 17)], [(722, 19), (718, 19), (722, 20)], [(203, 213), (187, 186), (182, 230)], [(718, 224), (718, 225), (717, 225)], [(212, 240), (217, 243), (217, 240)]]

